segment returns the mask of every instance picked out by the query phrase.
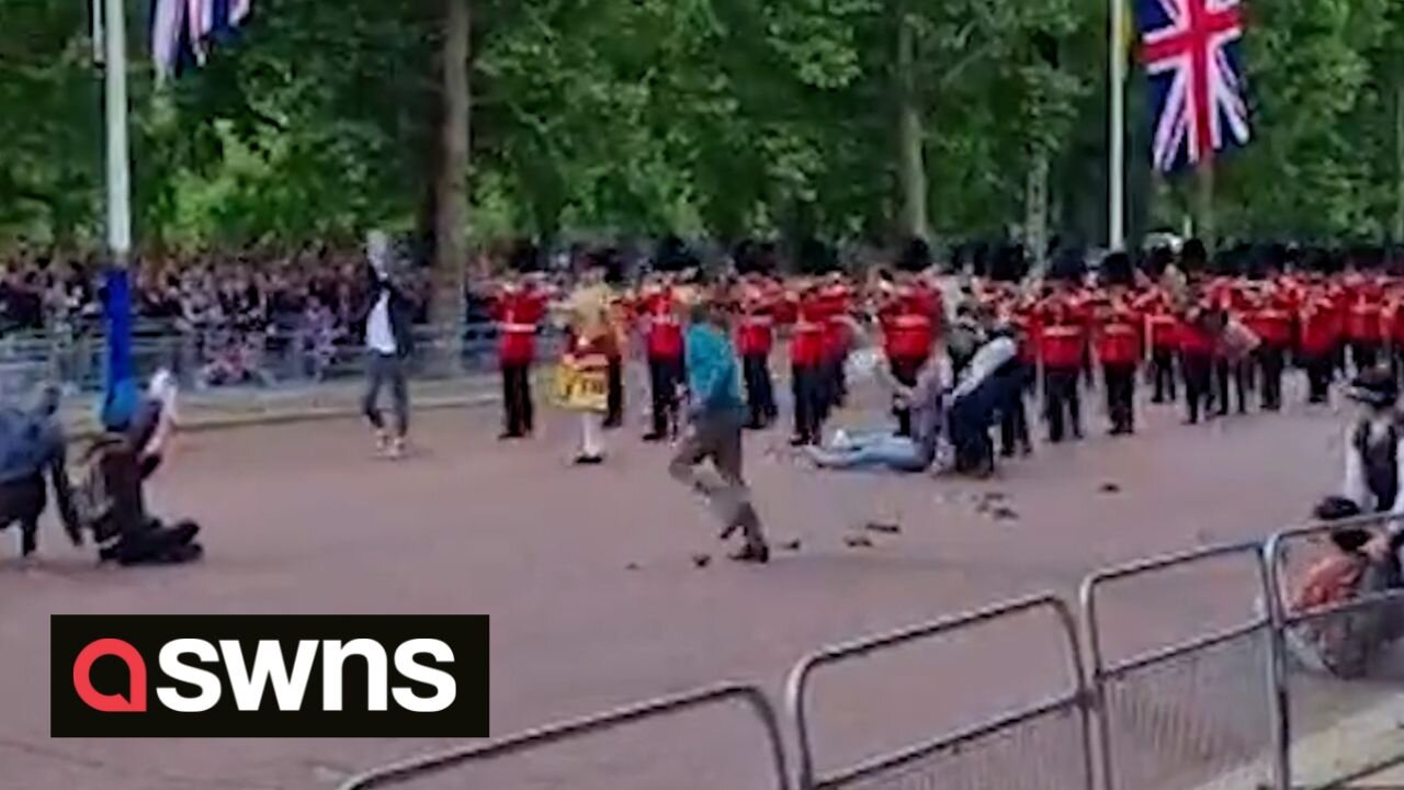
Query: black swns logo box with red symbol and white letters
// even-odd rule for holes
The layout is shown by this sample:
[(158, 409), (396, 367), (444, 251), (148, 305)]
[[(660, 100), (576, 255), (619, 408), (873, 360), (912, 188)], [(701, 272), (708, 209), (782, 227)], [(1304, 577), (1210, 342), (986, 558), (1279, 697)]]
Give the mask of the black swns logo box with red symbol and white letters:
[(69, 616), (55, 738), (483, 738), (486, 616)]

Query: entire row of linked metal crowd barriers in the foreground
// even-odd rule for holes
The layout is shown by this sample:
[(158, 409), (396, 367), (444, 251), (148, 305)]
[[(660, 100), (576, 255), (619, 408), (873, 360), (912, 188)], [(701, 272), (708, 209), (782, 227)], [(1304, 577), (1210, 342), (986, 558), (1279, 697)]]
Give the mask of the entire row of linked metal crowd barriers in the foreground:
[[(783, 717), (757, 686), (723, 685), (425, 755), (351, 777), (341, 790), (423, 787), (418, 783), (427, 779), (479, 787), (483, 784), (475, 784), (475, 776), (482, 775), (475, 775), (473, 769), (504, 753), (576, 741), (621, 723), (637, 727), (653, 721), (661, 727), (657, 720), (696, 704), (710, 704), (719, 696), (737, 696), (748, 703), (768, 752), (781, 765), (774, 783), (764, 786), (781, 790), (790, 783), (799, 790), (1337, 787), (1404, 763), (1404, 739), (1389, 732), (1384, 732), (1384, 746), (1376, 745), (1373, 751), (1365, 748), (1365, 734), (1346, 731), (1331, 741), (1327, 752), (1311, 753), (1313, 738), (1331, 728), (1348, 730), (1349, 720), (1365, 718), (1382, 704), (1393, 706), (1387, 718), (1397, 727), (1397, 706), (1404, 701), (1404, 666), (1390, 655), (1393, 649), (1397, 656), (1404, 647), (1398, 642), (1404, 635), (1401, 630), (1389, 631), (1367, 669), (1352, 678), (1309, 669), (1289, 648), (1292, 634), (1304, 626), (1338, 631), (1341, 626), (1358, 624), (1362, 616), (1396, 624), (1404, 621), (1401, 589), (1362, 593), (1310, 610), (1293, 610), (1287, 603), (1296, 582), (1287, 578), (1289, 548), (1293, 554), (1318, 551), (1323, 538), (1342, 526), (1372, 529), (1383, 526), (1383, 520), (1366, 517), (1346, 524), (1290, 529), (1262, 543), (1199, 548), (1105, 569), (1084, 581), (1075, 609), (1054, 595), (1040, 595), (820, 648), (790, 671)], [(1237, 569), (1247, 589), (1257, 590), (1257, 600), (1241, 602), (1243, 610), (1254, 614), (1237, 624), (1179, 637), (1164, 645), (1147, 645), (1130, 655), (1109, 648), (1116, 626), (1105, 614), (1108, 603), (1122, 596), (1133, 600), (1134, 593), (1127, 590), (1136, 585), (1174, 579), (1177, 574), (1224, 562)], [(824, 689), (816, 676), (823, 675), (823, 669), (914, 645), (956, 644), (977, 628), (1031, 611), (1052, 614), (1067, 634), (1056, 651), (1068, 666), (1070, 678), (1049, 689), (1045, 700), (948, 732), (911, 732), (906, 746), (847, 765), (835, 765), (816, 742), (813, 711), (819, 708), (814, 699), (821, 697)], [(941, 678), (913, 678), (911, 683), (939, 687)], [(724, 694), (717, 689), (726, 689)], [(830, 706), (828, 710), (841, 708)], [(788, 735), (797, 744), (795, 765), (783, 762), (786, 734), (775, 721), (783, 721)], [(650, 752), (650, 759), (677, 759), (677, 753), (670, 752), (660, 745)], [(591, 765), (602, 765), (600, 759)], [(629, 768), (616, 762), (609, 765), (614, 784), (629, 786)], [(574, 786), (573, 777), (557, 780), (562, 786)], [(715, 787), (687, 782), (677, 787), (703, 786)]]

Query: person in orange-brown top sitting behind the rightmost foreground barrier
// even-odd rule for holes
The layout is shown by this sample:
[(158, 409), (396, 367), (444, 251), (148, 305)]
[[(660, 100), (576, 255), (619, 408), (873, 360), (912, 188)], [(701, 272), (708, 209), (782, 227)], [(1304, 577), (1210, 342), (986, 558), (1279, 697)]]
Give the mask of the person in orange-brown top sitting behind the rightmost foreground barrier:
[[(1316, 509), (1321, 522), (1341, 522), (1360, 516), (1349, 499), (1332, 496)], [(1373, 536), (1363, 527), (1341, 526), (1331, 531), (1330, 554), (1317, 559), (1287, 602), (1289, 614), (1306, 614), (1349, 603), (1362, 596), (1377, 596), (1397, 588), (1390, 566), (1366, 551)], [(1325, 671), (1337, 678), (1363, 676), (1370, 662), (1400, 634), (1391, 628), (1391, 606), (1339, 611), (1307, 620), (1286, 633), (1287, 648), (1307, 669)]]

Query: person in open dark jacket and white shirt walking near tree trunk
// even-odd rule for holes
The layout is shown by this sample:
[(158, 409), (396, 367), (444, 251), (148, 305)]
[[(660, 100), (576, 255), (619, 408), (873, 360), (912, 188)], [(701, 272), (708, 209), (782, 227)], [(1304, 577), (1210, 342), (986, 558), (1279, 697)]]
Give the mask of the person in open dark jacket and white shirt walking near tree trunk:
[[(390, 243), (375, 231), (366, 239), (366, 298), (359, 319), (365, 323), (366, 389), (362, 410), (375, 429), (376, 447), (390, 457), (404, 454), (410, 430), (410, 391), (406, 367), (414, 350), (414, 301), (390, 276)], [(380, 416), (380, 388), (389, 382), (395, 408), (395, 436)]]

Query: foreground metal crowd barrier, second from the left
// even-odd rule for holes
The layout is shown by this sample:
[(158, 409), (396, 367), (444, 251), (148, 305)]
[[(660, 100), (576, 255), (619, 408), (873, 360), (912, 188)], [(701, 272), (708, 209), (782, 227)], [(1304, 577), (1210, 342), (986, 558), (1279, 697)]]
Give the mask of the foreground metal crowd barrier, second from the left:
[[(809, 720), (816, 671), (889, 648), (936, 640), (958, 631), (1047, 610), (1066, 634), (1071, 683), (1047, 701), (938, 738), (921, 737), (894, 753), (819, 775)], [(840, 787), (1050, 787), (1091, 790), (1092, 752), (1088, 694), (1077, 627), (1067, 606), (1052, 595), (1016, 600), (958, 617), (858, 640), (814, 652), (789, 675), (786, 707), (799, 739), (800, 790)], [(1038, 756), (1042, 762), (1031, 762)]]

